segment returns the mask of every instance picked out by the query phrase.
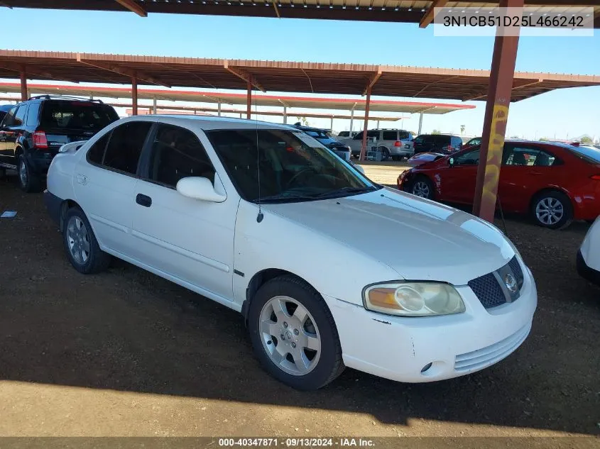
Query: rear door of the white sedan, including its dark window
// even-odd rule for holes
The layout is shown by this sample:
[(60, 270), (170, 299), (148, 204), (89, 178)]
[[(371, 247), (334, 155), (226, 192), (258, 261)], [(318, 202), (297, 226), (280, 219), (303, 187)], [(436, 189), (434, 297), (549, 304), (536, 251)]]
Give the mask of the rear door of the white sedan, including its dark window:
[(127, 121), (102, 135), (80, 159), (73, 174), (77, 202), (101, 245), (131, 257), (131, 223), (138, 162), (151, 121)]

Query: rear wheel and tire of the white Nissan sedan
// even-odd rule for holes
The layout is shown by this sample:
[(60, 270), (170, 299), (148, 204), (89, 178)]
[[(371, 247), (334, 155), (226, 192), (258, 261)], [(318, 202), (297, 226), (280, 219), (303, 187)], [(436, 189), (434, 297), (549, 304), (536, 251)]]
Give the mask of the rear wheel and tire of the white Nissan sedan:
[(83, 211), (72, 207), (67, 211), (63, 223), (62, 242), (73, 268), (84, 275), (106, 270), (111, 256), (100, 249)]

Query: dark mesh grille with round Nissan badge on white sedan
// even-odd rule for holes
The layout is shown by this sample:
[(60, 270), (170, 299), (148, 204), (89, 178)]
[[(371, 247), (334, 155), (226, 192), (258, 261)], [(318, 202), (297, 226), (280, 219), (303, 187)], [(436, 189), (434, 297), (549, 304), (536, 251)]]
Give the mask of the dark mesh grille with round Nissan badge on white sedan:
[[(517, 282), (518, 289), (516, 294), (511, 294), (508, 288), (499, 280), (503, 279), (503, 275), (508, 273), (513, 275)], [(523, 270), (521, 270), (517, 256), (514, 256), (510, 262), (496, 270), (496, 272), (471, 279), (467, 284), (471, 287), (471, 290), (473, 290), (479, 301), (481, 301), (481, 305), (486, 309), (491, 309), (492, 307), (501, 306), (506, 302), (518, 299), (523, 282)]]

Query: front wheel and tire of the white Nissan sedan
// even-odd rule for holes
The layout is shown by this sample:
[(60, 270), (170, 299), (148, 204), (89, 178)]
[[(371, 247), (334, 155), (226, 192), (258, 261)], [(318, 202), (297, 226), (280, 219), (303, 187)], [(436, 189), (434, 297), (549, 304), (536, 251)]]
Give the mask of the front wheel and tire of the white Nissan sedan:
[(290, 387), (319, 389), (344, 370), (342, 347), (327, 304), (296, 277), (276, 277), (258, 289), (250, 304), (248, 327), (263, 368)]

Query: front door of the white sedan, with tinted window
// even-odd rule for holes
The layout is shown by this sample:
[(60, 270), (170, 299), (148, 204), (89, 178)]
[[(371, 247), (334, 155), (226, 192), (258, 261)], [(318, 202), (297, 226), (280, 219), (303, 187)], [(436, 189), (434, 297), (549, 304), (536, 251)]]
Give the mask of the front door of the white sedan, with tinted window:
[(136, 186), (133, 205), (134, 257), (213, 299), (217, 295), (229, 301), (239, 201), (200, 201), (176, 190), (182, 178), (205, 177), (224, 192), (192, 131), (159, 124), (149, 148), (148, 169)]

